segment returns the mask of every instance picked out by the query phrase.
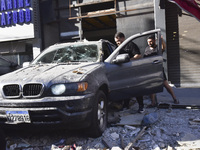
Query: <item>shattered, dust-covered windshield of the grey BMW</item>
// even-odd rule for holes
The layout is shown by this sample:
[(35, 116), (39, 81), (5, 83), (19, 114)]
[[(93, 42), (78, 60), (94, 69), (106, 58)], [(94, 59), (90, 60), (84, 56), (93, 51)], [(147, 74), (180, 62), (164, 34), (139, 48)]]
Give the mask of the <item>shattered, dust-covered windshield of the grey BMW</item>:
[(96, 44), (77, 44), (50, 47), (39, 55), (32, 64), (96, 62), (98, 47)]

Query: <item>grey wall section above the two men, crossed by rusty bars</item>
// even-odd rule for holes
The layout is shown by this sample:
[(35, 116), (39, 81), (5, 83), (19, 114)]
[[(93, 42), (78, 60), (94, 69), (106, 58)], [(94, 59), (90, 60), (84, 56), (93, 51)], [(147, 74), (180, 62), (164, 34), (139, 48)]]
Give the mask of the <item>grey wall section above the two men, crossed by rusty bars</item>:
[(117, 10), (117, 31), (126, 37), (154, 29), (153, 0), (119, 1)]

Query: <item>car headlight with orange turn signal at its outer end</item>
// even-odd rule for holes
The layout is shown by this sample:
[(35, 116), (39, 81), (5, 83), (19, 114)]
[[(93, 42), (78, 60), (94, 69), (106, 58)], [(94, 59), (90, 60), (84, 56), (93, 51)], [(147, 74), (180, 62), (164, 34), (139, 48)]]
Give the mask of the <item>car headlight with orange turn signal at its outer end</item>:
[(76, 92), (84, 92), (88, 88), (87, 82), (79, 82), (79, 83), (66, 83), (66, 84), (55, 84), (51, 86), (51, 92), (54, 95), (71, 95)]

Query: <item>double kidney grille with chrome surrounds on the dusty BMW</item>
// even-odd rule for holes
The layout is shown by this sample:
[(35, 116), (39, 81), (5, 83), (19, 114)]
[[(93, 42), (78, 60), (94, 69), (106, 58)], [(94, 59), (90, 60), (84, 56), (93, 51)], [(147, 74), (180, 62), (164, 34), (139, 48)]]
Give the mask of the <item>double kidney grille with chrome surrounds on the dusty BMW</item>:
[(25, 84), (22, 88), (17, 84), (3, 86), (3, 92), (6, 98), (19, 98), (21, 96), (25, 98), (39, 97), (43, 90), (44, 86), (40, 83)]

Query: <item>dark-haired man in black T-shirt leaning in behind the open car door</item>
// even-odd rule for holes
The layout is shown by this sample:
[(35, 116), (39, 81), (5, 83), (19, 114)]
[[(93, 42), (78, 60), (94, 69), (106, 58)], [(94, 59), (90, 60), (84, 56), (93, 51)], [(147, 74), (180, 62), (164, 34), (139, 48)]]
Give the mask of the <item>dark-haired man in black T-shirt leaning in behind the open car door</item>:
[[(124, 33), (117, 32), (114, 36), (114, 40), (117, 46), (121, 45), (125, 41)], [(129, 54), (130, 60), (141, 58), (140, 50), (134, 42), (129, 42), (123, 49), (119, 51), (119, 54), (125, 54), (125, 53)], [(136, 97), (136, 100), (139, 104), (138, 112), (142, 113), (144, 111), (143, 96)], [(129, 108), (129, 101), (130, 99), (124, 100), (124, 107)]]

